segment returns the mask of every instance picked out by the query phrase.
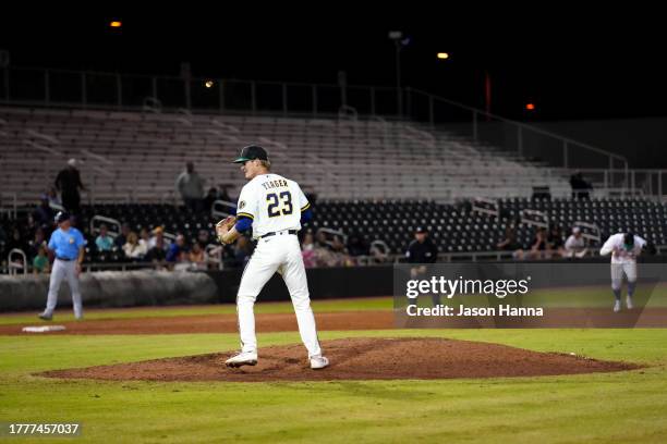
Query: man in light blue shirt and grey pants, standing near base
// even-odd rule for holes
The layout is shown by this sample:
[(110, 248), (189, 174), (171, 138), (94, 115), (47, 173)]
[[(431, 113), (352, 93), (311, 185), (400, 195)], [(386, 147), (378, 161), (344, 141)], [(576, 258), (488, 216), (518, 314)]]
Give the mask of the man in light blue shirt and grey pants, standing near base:
[(39, 314), (39, 319), (50, 321), (53, 318), (53, 310), (56, 310), (56, 304), (58, 303), (58, 292), (63, 279), (68, 280), (70, 292), (72, 292), (74, 317), (82, 319), (83, 307), (81, 292), (78, 291), (78, 275), (84, 259), (86, 240), (78, 230), (71, 226), (70, 214), (66, 212), (61, 211), (56, 214), (56, 223), (58, 230), (51, 234), (49, 239), (49, 250), (54, 254), (56, 259), (49, 280), (47, 306), (44, 312)]

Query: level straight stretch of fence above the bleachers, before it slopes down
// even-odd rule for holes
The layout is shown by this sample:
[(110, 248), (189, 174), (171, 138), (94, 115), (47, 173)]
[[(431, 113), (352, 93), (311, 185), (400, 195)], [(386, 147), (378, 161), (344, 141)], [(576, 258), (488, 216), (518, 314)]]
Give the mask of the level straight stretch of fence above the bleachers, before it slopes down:
[(398, 116), (396, 88), (9, 66), (0, 103), (90, 109)]

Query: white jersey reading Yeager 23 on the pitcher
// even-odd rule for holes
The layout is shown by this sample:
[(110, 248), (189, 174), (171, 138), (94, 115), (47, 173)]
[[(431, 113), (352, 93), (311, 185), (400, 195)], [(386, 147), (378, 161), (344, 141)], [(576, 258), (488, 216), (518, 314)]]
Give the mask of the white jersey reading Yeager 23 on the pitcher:
[(301, 230), (301, 212), (310, 205), (296, 182), (262, 174), (241, 189), (237, 217), (253, 220), (253, 237), (257, 239), (271, 232)]

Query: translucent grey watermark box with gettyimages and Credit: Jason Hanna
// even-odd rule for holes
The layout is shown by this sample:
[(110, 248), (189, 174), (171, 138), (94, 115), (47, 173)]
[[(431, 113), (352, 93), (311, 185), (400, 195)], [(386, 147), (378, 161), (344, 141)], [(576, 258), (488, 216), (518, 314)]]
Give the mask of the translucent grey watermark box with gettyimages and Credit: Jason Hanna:
[(395, 326), (665, 326), (667, 263), (640, 263), (630, 270), (636, 281), (622, 275), (618, 285), (614, 270), (582, 261), (397, 263)]

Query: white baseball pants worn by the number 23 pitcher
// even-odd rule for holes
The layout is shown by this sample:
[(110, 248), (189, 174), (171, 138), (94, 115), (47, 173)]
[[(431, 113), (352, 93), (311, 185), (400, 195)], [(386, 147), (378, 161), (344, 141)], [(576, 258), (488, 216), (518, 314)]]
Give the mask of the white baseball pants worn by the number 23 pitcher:
[(260, 238), (255, 252), (243, 270), (241, 285), (237, 295), (237, 311), (239, 313), (239, 333), (241, 335), (242, 351), (257, 351), (257, 336), (255, 335), (255, 313), (253, 311), (257, 295), (271, 279), (275, 272), (282, 275), (287, 284), (301, 341), (308, 350), (308, 357), (322, 354), (315, 317), (311, 309), (308, 282), (306, 280), (299, 237), (278, 232), (274, 236)]

